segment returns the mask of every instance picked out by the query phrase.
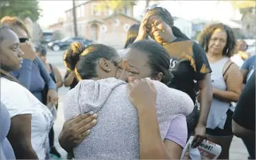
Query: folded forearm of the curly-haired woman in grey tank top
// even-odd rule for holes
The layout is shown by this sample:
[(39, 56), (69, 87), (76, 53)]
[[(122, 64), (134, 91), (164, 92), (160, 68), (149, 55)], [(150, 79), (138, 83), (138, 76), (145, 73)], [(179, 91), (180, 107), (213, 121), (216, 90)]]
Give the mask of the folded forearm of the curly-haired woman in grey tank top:
[(219, 89), (214, 89), (214, 98), (217, 98), (224, 102), (237, 102), (239, 100), (240, 94), (232, 91), (222, 91)]

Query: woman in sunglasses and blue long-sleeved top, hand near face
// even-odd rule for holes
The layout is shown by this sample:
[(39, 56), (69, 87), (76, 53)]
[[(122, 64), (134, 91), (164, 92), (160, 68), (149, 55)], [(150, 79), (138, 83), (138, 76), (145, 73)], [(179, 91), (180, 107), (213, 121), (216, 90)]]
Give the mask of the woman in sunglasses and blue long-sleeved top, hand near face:
[[(18, 35), (20, 40), (20, 48), (25, 53), (23, 56), (23, 67), (14, 71), (20, 84), (28, 88), (35, 97), (43, 102), (42, 91), (44, 85), (47, 84), (49, 91), (47, 99), (52, 103), (58, 102), (58, 93), (56, 92), (56, 84), (49, 76), (47, 69), (44, 67), (42, 60), (35, 55), (34, 46), (30, 42), (30, 34), (23, 22), (16, 17), (4, 17), (1, 19), (1, 25), (7, 25), (13, 32)], [(47, 105), (44, 102), (44, 105)]]

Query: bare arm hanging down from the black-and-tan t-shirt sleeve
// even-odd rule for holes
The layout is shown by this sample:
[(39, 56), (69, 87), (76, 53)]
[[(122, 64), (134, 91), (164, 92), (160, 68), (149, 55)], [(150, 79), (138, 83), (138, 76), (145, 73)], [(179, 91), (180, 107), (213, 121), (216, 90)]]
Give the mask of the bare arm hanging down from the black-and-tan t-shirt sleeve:
[(195, 128), (195, 138), (192, 142), (194, 148), (198, 147), (206, 139), (206, 123), (212, 104), (212, 82), (210, 74), (205, 74), (205, 78), (198, 81), (198, 87), (200, 88), (200, 117)]

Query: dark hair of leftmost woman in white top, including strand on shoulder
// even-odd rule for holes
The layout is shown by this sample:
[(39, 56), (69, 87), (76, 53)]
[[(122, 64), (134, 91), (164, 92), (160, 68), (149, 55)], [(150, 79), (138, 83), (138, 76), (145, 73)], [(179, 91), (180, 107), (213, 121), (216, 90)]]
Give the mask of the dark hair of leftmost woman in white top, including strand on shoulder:
[[(6, 29), (10, 29), (10, 28), (7, 27), (6, 25), (1, 25), (1, 27), (0, 27), (0, 55), (1, 55), (1, 42), (7, 38), (6, 36), (4, 36), (4, 30), (6, 30)], [(10, 81), (16, 81), (17, 83), (19, 83), (15, 77), (11, 76), (11, 74), (9, 74), (8, 72), (6, 72), (4, 69), (1, 69), (1, 68), (0, 68), (0, 76), (4, 77)]]

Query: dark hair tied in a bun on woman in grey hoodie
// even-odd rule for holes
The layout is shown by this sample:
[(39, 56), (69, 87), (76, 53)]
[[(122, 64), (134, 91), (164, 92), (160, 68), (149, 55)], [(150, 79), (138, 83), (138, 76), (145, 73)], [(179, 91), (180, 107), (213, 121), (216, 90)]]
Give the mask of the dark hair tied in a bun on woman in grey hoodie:
[(63, 55), (64, 65), (69, 72), (75, 72), (80, 81), (97, 77), (97, 62), (100, 58), (111, 60), (118, 53), (114, 48), (104, 44), (92, 44), (85, 47), (80, 42), (74, 42)]

